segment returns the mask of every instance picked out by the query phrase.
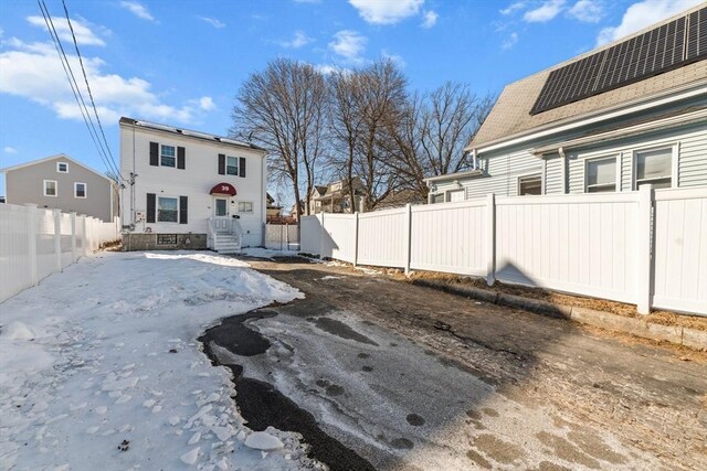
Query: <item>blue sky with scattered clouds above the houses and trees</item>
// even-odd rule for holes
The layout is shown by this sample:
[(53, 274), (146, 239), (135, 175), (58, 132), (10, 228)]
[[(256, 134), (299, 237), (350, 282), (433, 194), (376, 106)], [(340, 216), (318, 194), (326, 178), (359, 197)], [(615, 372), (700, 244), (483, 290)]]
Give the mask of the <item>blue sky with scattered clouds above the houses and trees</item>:
[[(498, 93), (701, 0), (65, 1), (117, 160), (120, 116), (226, 133), (240, 85), (274, 57), (326, 72), (388, 56), (420, 90)], [(45, 2), (73, 52), (61, 0)], [(36, 2), (1, 0), (0, 168), (60, 152), (105, 170)]]

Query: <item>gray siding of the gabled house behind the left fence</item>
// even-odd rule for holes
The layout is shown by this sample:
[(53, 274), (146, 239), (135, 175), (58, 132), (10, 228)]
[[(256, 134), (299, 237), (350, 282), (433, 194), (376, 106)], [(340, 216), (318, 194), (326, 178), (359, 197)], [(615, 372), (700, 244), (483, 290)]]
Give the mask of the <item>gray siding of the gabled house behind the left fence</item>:
[[(56, 162), (66, 162), (68, 172), (56, 171)], [(44, 180), (56, 181), (56, 196), (44, 196)], [(74, 197), (74, 183), (86, 184), (86, 197)], [(113, 221), (112, 203), (117, 205), (117, 195), (110, 182), (71, 160), (57, 157), (38, 162), (6, 174), (7, 202), (11, 204), (34, 203), (39, 207), (59, 208)]]

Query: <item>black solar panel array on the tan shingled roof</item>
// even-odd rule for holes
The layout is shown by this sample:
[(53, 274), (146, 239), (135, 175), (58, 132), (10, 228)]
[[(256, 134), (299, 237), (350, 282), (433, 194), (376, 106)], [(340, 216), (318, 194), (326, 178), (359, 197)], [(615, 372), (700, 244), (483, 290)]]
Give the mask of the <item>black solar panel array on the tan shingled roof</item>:
[(707, 8), (550, 72), (530, 115), (707, 58)]

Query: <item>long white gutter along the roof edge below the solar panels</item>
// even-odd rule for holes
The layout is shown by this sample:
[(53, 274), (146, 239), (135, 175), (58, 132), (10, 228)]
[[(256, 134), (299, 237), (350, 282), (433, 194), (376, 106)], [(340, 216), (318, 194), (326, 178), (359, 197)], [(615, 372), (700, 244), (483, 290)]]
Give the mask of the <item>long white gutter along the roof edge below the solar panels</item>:
[(560, 124), (566, 122), (563, 125), (558, 126), (558, 122), (542, 125), (528, 131), (511, 135), (502, 139), (496, 139), (494, 141), (487, 142), (482, 147), (473, 146), (474, 142), (472, 142), (464, 150), (469, 151), (476, 148), (476, 151), (478, 153), (490, 152), (509, 146), (524, 143), (534, 139), (552, 136), (559, 132), (569, 131), (572, 129), (581, 128), (583, 126), (619, 118), (632, 113), (642, 111), (656, 106), (667, 105), (674, 101), (679, 101), (682, 99), (693, 98), (700, 95), (707, 96), (707, 79), (701, 79), (697, 83), (692, 83), (679, 88), (672, 89), (667, 93), (642, 97), (640, 99), (623, 103), (621, 105), (603, 108), (601, 110), (590, 111), (584, 115), (579, 115), (572, 118), (568, 118), (567, 120), (559, 121)]

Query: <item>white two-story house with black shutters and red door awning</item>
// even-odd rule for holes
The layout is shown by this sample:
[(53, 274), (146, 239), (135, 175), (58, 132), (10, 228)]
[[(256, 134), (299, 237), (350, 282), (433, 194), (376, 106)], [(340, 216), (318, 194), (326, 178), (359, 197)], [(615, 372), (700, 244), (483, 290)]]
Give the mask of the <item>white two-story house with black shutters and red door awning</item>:
[(225, 137), (120, 118), (126, 250), (263, 245), (265, 151)]

